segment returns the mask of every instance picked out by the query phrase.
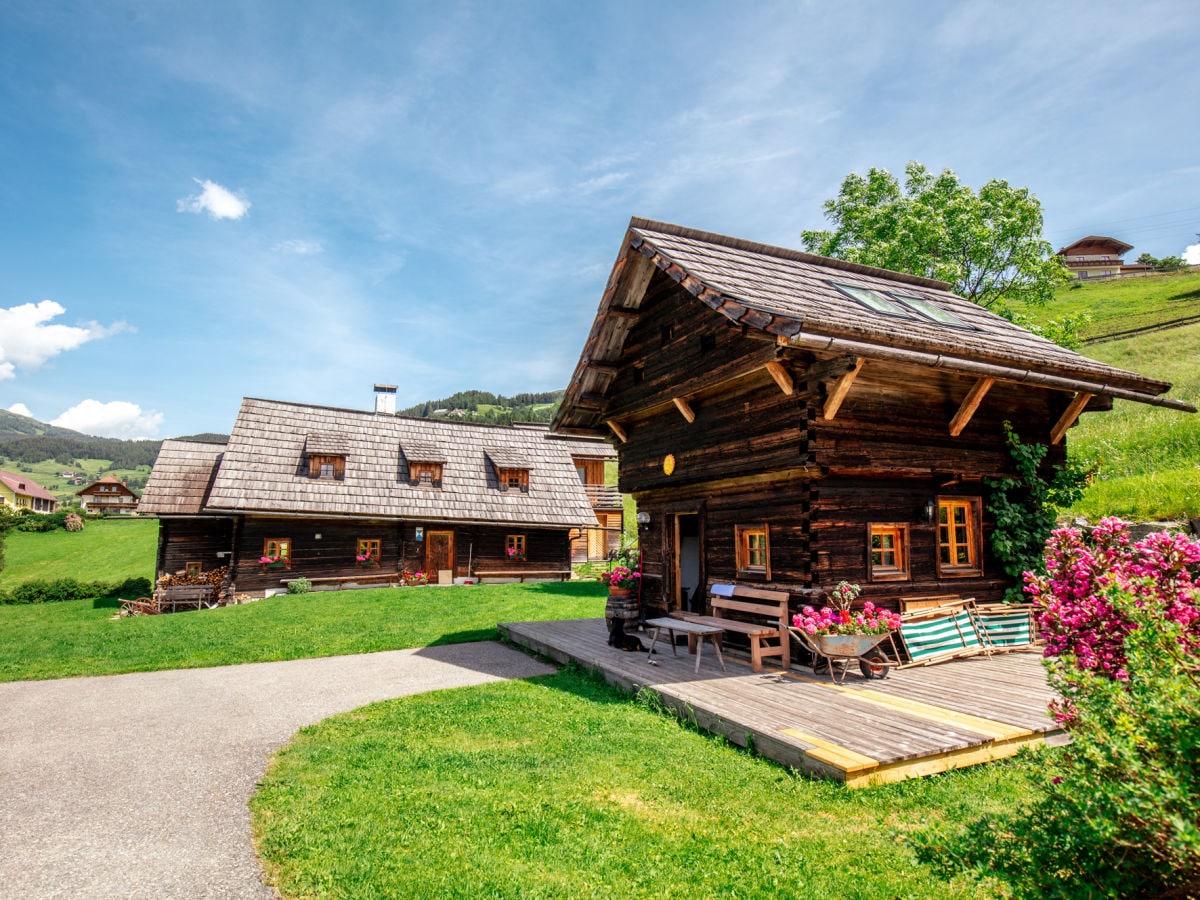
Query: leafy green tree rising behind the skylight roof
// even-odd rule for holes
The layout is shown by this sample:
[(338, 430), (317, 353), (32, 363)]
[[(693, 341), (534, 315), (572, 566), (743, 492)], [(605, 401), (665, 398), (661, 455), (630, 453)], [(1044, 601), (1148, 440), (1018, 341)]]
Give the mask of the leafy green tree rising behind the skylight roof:
[(851, 173), (824, 203), (830, 230), (806, 230), (812, 253), (949, 282), (991, 307), (998, 300), (1042, 305), (1067, 281), (1042, 236), (1042, 204), (1025, 187), (991, 180), (976, 193), (950, 169), (905, 166)]

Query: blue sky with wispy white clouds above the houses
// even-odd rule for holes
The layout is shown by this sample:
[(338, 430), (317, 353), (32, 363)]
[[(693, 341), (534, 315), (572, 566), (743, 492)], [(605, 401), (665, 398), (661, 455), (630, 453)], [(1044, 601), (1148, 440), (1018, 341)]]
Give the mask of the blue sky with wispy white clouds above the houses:
[(630, 216), (799, 247), (908, 160), (1200, 244), (1194, 0), (0, 5), (0, 408), (227, 432), (565, 386)]

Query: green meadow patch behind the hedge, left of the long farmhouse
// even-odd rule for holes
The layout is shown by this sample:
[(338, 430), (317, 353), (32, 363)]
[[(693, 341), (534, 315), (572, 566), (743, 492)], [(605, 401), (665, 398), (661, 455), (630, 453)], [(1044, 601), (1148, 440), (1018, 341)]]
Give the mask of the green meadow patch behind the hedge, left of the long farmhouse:
[(89, 521), (82, 532), (7, 533), (0, 588), (34, 578), (79, 581), (154, 581), (158, 546), (156, 518)]

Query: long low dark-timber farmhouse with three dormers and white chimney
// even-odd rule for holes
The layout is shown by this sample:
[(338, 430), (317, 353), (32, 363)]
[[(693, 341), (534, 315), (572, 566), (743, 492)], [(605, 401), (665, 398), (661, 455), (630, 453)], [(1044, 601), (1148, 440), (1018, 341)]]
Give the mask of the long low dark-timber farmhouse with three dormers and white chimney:
[[(620, 497), (586, 484), (613, 456), (544, 425), (246, 398), (227, 444), (163, 442), (142, 511), (161, 520), (160, 576), (228, 566), (239, 592), (566, 578), (572, 544), (619, 542)], [(612, 529), (589, 497), (605, 526), (616, 503)]]

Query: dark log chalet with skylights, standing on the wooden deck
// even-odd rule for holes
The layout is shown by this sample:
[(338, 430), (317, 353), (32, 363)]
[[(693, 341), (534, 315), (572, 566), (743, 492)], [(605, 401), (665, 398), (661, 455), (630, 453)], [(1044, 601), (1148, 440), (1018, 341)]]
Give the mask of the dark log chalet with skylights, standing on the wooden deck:
[(998, 600), (983, 480), (1003, 422), (1061, 463), (1114, 398), (1195, 412), (941, 282), (632, 220), (553, 422), (607, 434), (648, 606), (714, 581)]

